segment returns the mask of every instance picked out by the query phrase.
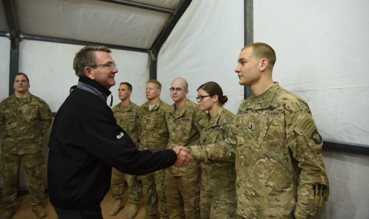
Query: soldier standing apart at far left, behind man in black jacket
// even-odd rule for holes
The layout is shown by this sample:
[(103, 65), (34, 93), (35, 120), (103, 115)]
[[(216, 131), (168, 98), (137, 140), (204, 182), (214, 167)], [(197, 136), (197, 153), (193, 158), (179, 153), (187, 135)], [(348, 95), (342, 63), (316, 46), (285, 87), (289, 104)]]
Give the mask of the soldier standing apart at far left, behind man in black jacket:
[(45, 188), (41, 173), (45, 169), (42, 155), (42, 137), (52, 122), (50, 107), (44, 100), (29, 91), (27, 75), (18, 73), (14, 80), (14, 95), (0, 103), (1, 140), (0, 172), (3, 176), (3, 208), (1, 219), (9, 219), (15, 213), (18, 174), (22, 162), (29, 181), (32, 211), (38, 218), (46, 217), (42, 208)]

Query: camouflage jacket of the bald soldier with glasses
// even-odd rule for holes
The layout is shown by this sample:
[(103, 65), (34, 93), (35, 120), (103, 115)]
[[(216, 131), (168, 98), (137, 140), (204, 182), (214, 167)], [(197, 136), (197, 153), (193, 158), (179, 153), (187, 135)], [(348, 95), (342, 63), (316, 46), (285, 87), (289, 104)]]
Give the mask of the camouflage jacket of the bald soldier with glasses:
[[(169, 130), (168, 149), (172, 149), (177, 145), (198, 145), (200, 132), (197, 129), (199, 121), (205, 117), (199, 106), (189, 99), (186, 99), (182, 111), (176, 116), (176, 105), (170, 106), (169, 113), (166, 117), (166, 124)], [(171, 166), (168, 168), (173, 176), (188, 176), (196, 171), (200, 171), (199, 160), (194, 160), (186, 167), (177, 168)]]

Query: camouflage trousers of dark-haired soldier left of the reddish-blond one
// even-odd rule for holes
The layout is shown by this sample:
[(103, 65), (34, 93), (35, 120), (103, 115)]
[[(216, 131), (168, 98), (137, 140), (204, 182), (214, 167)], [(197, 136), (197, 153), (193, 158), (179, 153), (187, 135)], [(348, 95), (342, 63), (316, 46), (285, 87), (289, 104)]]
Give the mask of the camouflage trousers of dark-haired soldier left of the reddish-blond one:
[[(128, 201), (138, 204), (141, 189), (138, 187), (137, 176), (125, 174), (125, 180), (128, 184)], [(114, 167), (111, 169), (111, 194), (115, 199), (121, 199), (124, 195), (124, 173)]]

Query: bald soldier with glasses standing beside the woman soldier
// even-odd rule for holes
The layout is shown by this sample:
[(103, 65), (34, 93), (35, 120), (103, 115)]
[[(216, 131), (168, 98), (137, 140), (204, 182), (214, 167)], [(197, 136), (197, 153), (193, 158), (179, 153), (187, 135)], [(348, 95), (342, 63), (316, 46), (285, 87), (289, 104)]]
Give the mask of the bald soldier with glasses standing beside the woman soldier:
[[(169, 130), (168, 148), (176, 145), (199, 144), (200, 133), (196, 129), (204, 118), (196, 103), (186, 98), (187, 81), (176, 78), (170, 87), (170, 96), (175, 102), (166, 116)], [(186, 167), (168, 167), (165, 174), (165, 196), (170, 219), (200, 218), (200, 162), (195, 160)]]

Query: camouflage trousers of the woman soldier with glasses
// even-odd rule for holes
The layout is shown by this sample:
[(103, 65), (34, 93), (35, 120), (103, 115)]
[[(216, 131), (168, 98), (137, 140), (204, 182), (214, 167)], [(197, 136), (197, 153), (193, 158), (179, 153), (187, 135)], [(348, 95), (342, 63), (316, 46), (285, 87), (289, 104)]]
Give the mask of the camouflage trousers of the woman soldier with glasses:
[[(220, 180), (220, 179), (217, 179)], [(202, 181), (200, 191), (200, 215), (201, 219), (237, 219), (237, 198), (229, 191), (214, 191), (208, 186), (210, 182)]]

